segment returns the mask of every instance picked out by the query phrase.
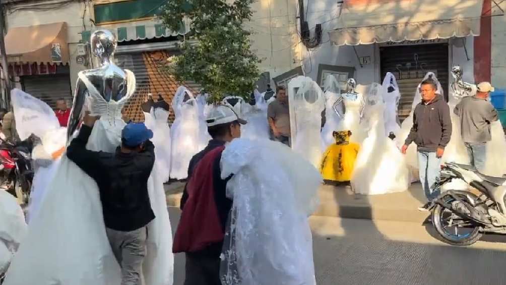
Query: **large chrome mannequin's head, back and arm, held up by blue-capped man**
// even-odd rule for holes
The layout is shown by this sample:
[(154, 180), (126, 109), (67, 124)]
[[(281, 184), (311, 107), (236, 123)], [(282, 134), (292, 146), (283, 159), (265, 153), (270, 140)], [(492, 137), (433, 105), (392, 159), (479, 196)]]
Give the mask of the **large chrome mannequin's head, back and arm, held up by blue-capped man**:
[[(124, 70), (114, 64), (116, 36), (109, 30), (97, 30), (92, 33), (90, 43), (93, 55), (100, 60), (99, 68), (83, 70), (80, 73), (89, 79), (106, 102), (117, 102), (126, 95), (127, 76)], [(68, 139), (78, 127), (88, 95), (87, 87), (81, 79), (78, 79), (68, 124)]]

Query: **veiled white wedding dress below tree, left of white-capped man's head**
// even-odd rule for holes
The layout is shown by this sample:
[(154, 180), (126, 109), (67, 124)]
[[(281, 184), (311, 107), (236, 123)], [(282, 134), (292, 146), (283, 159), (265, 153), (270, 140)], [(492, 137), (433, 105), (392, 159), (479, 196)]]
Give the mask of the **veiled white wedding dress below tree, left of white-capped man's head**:
[(205, 147), (203, 138), (209, 134), (200, 111), (202, 109), (186, 87), (178, 88), (172, 108), (176, 119), (171, 128), (171, 178), (180, 180), (187, 178), (190, 160)]

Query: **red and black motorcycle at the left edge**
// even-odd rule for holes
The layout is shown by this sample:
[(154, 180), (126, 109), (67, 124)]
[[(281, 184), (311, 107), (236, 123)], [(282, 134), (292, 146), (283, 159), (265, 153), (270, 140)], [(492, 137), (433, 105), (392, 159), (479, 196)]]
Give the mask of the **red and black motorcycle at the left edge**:
[(18, 198), (19, 203), (27, 203), (33, 180), (31, 162), (31, 140), (12, 144), (0, 142), (0, 176), (7, 191)]

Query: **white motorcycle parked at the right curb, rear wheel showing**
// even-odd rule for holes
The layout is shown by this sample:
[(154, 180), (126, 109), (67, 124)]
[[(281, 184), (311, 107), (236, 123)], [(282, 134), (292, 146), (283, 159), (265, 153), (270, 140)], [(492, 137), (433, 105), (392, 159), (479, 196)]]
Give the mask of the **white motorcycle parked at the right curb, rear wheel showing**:
[(448, 190), (432, 203), (432, 223), (444, 241), (469, 246), (486, 232), (506, 234), (506, 178), (483, 175), (472, 166), (453, 162), (441, 169), (435, 187), (462, 179), (477, 189)]

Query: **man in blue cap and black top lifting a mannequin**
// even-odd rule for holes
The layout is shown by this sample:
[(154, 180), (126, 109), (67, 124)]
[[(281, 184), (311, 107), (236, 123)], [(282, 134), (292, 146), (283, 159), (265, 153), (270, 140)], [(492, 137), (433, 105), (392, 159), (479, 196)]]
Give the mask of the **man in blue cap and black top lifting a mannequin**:
[(155, 162), (149, 140), (153, 132), (142, 123), (129, 123), (115, 153), (91, 151), (86, 144), (97, 119), (85, 115), (79, 135), (67, 147), (67, 156), (97, 182), (107, 237), (121, 266), (121, 284), (140, 285), (147, 224), (155, 218), (147, 186)]

